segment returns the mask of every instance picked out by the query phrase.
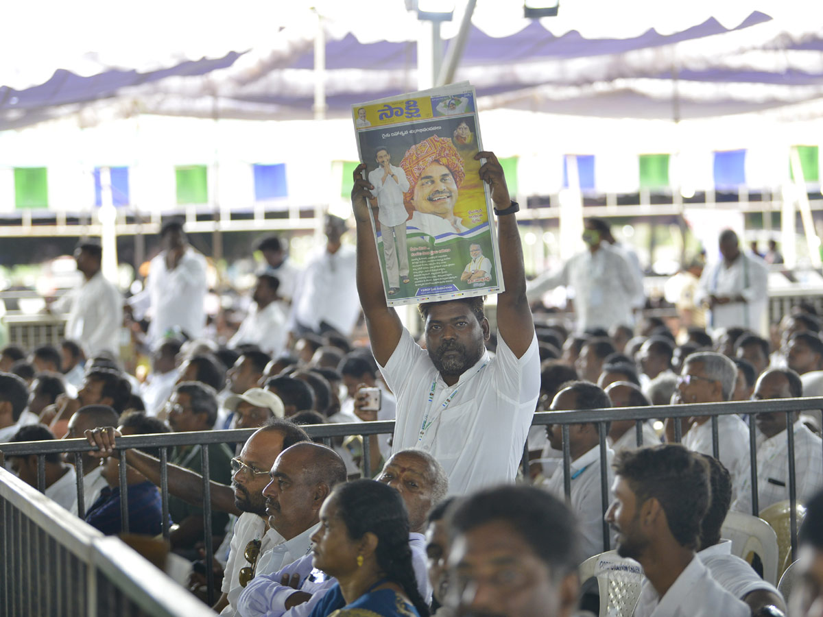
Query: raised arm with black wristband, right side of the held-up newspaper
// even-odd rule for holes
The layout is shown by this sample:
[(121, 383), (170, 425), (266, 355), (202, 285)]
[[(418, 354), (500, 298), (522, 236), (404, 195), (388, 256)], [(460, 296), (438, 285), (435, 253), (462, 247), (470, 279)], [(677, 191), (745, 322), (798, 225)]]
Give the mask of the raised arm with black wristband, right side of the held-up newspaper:
[[(491, 201), (497, 210), (511, 206), (509, 188), (500, 161), (494, 152), (478, 152), (475, 159), (486, 159), (480, 177), (491, 188)], [(506, 290), (497, 296), (497, 330), (506, 345), (518, 358), (526, 353), (534, 338), (532, 309), (526, 299), (526, 273), (523, 270), (523, 248), (514, 213), (497, 217), (497, 239), (500, 244), (500, 269)]]

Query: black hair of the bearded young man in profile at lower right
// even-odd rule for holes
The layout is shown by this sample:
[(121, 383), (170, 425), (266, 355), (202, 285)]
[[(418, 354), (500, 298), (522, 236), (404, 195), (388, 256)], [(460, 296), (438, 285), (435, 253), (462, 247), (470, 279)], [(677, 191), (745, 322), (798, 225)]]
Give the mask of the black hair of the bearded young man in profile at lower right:
[(657, 499), (677, 543), (698, 548), (711, 495), (709, 469), (698, 454), (679, 443), (663, 443), (617, 452), (612, 466), (629, 482), (638, 510), (647, 499)]

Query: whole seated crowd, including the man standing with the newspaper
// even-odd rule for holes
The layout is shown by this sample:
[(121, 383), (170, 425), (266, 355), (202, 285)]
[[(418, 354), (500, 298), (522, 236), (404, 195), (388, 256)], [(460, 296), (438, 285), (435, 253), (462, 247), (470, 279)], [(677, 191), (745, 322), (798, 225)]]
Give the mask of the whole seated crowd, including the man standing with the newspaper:
[[(504, 211), (502, 169), (486, 159), (481, 178)], [(377, 258), (361, 242), (366, 184), (356, 179), (353, 192), (359, 271), (374, 270)], [(714, 459), (709, 415), (661, 410), (637, 424), (621, 410), (823, 393), (816, 315), (793, 310), (774, 349), (742, 328), (673, 332), (658, 318), (574, 332), (551, 315), (532, 318), (516, 224), (501, 215), (499, 225), (506, 291), (497, 332), (482, 299), (457, 299), (422, 304), (416, 340), (385, 305), (379, 277), (363, 277), (370, 345), (331, 328), (295, 330), (265, 349), (249, 336), (218, 346), (172, 331), (151, 341), (140, 380), (107, 351), (86, 356), (83, 341), (9, 346), (0, 352), (0, 443), (85, 437), (95, 448), (81, 454), (83, 477), (74, 457), (49, 455), (45, 494), (117, 534), (128, 491), (129, 531), (158, 536), (170, 524), (171, 549), (202, 566), (192, 566), (188, 591), (205, 598), (203, 568), (213, 568), (221, 615), (584, 615), (578, 566), (609, 547), (644, 573), (635, 615), (784, 614), (788, 599), (732, 559), (719, 530), (730, 509), (752, 514), (753, 490), (760, 509), (788, 499), (788, 427), (797, 499), (810, 504), (802, 543), (808, 559), (820, 559), (819, 415), (721, 415)], [(264, 296), (277, 301), (277, 285), (263, 283), (270, 293), (255, 292), (261, 311)], [(379, 391), (377, 409), (364, 388)], [(535, 411), (610, 408), (611, 422), (531, 425)], [(301, 428), (393, 419), (394, 434), (368, 438), (370, 448), (359, 437), (319, 443)], [(253, 434), (168, 452), (163, 521), (160, 452), (120, 452), (118, 439), (221, 429)], [(35, 456), (7, 457), (7, 467), (39, 484)], [(214, 564), (200, 561), (207, 534)]]

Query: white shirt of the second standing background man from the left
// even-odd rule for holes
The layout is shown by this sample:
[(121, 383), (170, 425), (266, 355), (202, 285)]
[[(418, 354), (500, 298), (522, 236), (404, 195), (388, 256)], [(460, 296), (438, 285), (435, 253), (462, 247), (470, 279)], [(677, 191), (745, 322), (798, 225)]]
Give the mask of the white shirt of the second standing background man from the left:
[(165, 266), (165, 251), (151, 260), (146, 290), (131, 299), (135, 317), (151, 314), (148, 338), (161, 339), (172, 327), (197, 338), (206, 324), (203, 301), (208, 291), (206, 257), (189, 247), (174, 270)]

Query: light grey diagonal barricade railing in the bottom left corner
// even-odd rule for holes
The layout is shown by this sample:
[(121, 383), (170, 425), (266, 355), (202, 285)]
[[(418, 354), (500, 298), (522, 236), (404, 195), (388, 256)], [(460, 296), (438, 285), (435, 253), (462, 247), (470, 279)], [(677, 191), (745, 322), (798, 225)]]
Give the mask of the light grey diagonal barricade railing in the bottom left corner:
[(119, 538), (66, 514), (0, 468), (2, 615), (214, 615)]

